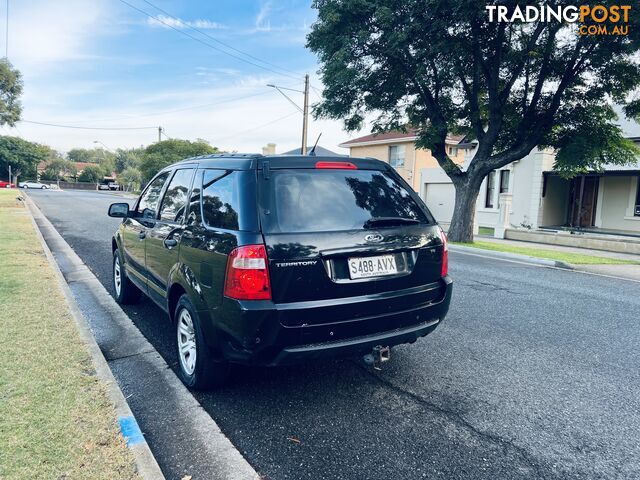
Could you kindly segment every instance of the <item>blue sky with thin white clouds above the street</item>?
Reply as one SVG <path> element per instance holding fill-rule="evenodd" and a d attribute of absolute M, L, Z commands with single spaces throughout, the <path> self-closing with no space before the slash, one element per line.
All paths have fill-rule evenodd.
<path fill-rule="evenodd" d="M 284 152 L 300 147 L 302 114 L 267 84 L 302 90 L 309 73 L 310 101 L 320 100 L 317 59 L 305 48 L 316 18 L 309 1 L 8 0 L 8 45 L 6 1 L 0 55 L 23 75 L 24 121 L 4 134 L 65 152 L 148 145 L 162 126 L 163 138 L 240 152 L 272 142 Z M 286 93 L 302 105 L 302 93 Z M 308 143 L 320 133 L 339 153 L 357 136 L 340 121 L 311 119 Z"/>

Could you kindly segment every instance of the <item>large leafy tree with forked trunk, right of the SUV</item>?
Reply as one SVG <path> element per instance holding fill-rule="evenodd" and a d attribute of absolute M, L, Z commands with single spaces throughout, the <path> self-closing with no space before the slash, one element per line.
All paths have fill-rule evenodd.
<path fill-rule="evenodd" d="M 500 2 L 509 13 L 547 4 Z M 449 236 L 462 242 L 473 240 L 482 180 L 536 146 L 554 148 L 556 168 L 567 175 L 628 163 L 636 153 L 612 105 L 629 118 L 640 112 L 640 100 L 630 98 L 640 86 L 637 12 L 617 24 L 628 26 L 627 35 L 581 35 L 579 23 L 490 22 L 487 5 L 494 4 L 315 0 L 318 20 L 307 39 L 325 85 L 316 115 L 341 118 L 348 130 L 369 118 L 374 131 L 417 128 L 418 146 L 431 150 L 455 186 Z M 477 141 L 466 169 L 447 155 L 452 132 Z"/>

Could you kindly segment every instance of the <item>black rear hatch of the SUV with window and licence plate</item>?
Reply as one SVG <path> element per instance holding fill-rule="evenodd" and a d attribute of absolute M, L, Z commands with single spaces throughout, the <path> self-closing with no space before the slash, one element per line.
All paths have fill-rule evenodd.
<path fill-rule="evenodd" d="M 335 168 L 341 165 L 349 168 Z M 258 172 L 272 296 L 283 324 L 384 313 L 367 310 L 376 300 L 384 301 L 375 308 L 400 311 L 441 296 L 439 227 L 415 192 L 378 162 L 329 166 Z"/>

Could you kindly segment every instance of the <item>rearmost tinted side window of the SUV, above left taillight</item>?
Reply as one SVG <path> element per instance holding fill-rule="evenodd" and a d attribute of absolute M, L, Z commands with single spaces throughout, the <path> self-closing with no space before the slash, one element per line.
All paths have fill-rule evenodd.
<path fill-rule="evenodd" d="M 213 228 L 256 230 L 255 172 L 204 170 L 202 219 Z"/>

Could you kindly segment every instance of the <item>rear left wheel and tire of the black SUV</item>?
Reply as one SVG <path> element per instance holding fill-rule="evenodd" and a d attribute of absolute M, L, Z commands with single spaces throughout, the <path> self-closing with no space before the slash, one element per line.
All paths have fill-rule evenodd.
<path fill-rule="evenodd" d="M 229 365 L 213 358 L 200 317 L 186 294 L 178 300 L 174 320 L 180 379 L 194 390 L 222 385 L 229 375 Z"/>

